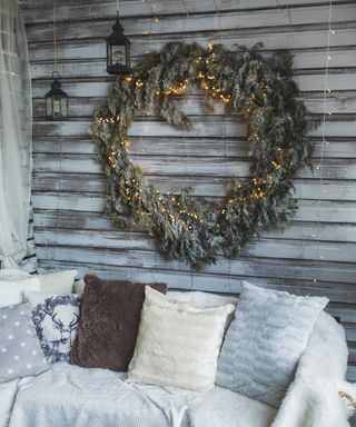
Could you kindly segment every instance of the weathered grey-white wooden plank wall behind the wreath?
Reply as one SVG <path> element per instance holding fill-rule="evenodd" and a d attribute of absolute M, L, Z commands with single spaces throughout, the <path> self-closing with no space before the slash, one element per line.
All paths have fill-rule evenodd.
<path fill-rule="evenodd" d="M 238 260 L 219 259 L 201 272 L 162 259 L 142 230 L 119 230 L 103 215 L 106 180 L 95 162 L 88 129 L 112 82 L 105 71 L 103 38 L 115 1 L 61 0 L 58 54 L 70 120 L 48 122 L 43 95 L 53 69 L 52 2 L 23 0 L 33 78 L 33 196 L 41 270 L 78 268 L 102 277 L 164 280 L 171 287 L 240 291 L 241 279 L 297 294 L 326 295 L 349 342 L 349 378 L 356 379 L 356 3 L 334 1 L 324 168 L 295 179 L 299 211 L 284 232 L 263 234 Z M 121 0 L 122 26 L 134 62 L 167 41 L 202 44 L 265 43 L 266 54 L 287 48 L 301 97 L 320 119 L 325 88 L 328 1 L 325 0 Z M 155 17 L 154 17 L 155 16 Z M 155 19 L 158 18 L 158 19 Z M 165 191 L 190 185 L 195 195 L 221 196 L 230 175 L 248 173 L 246 126 L 217 106 L 205 111 L 199 93 L 182 103 L 196 123 L 180 132 L 160 118 L 138 117 L 131 152 L 147 179 Z M 322 129 L 310 132 L 320 158 Z M 320 181 L 320 170 L 323 180 Z M 319 216 L 319 219 L 318 219 Z M 319 222 L 319 225 L 318 225 Z"/>

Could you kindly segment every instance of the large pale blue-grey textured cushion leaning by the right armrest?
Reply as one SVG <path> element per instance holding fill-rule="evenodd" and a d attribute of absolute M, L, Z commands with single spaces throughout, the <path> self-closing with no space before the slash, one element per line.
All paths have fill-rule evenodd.
<path fill-rule="evenodd" d="M 218 361 L 216 384 L 278 407 L 327 298 L 246 281 Z"/>

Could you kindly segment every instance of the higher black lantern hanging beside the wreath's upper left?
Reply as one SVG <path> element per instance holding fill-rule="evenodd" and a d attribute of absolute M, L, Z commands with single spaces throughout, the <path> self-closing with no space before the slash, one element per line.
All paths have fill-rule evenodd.
<path fill-rule="evenodd" d="M 107 41 L 107 72 L 109 75 L 128 75 L 130 72 L 130 41 L 123 34 L 119 13 L 112 27 L 113 32 Z"/>

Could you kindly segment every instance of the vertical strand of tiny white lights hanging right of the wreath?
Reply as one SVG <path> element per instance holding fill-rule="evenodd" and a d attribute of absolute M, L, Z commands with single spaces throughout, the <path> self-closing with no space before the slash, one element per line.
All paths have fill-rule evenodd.
<path fill-rule="evenodd" d="M 315 216 L 315 219 L 317 220 L 317 230 L 316 230 L 316 234 L 312 235 L 312 237 L 316 239 L 316 260 L 324 259 L 324 256 L 320 256 L 320 212 L 322 212 L 322 193 L 326 192 L 325 188 L 323 187 L 324 186 L 324 152 L 325 152 L 325 147 L 329 143 L 326 140 L 326 119 L 328 116 L 333 115 L 333 112 L 328 109 L 328 106 L 327 106 L 328 96 L 332 93 L 332 89 L 329 88 L 329 83 L 328 83 L 329 62 L 332 61 L 330 38 L 332 36 L 335 34 L 335 30 L 332 28 L 332 18 L 333 18 L 333 0 L 330 0 L 329 2 L 327 43 L 326 43 L 326 54 L 325 54 L 320 158 L 319 158 L 318 165 L 316 166 L 316 170 L 319 171 L 318 210 Z M 314 277 L 314 282 L 316 281 L 317 281 L 317 277 Z"/>

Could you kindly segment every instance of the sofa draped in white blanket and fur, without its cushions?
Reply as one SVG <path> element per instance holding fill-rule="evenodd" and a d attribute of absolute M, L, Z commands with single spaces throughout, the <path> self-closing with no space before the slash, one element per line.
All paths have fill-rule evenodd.
<path fill-rule="evenodd" d="M 346 427 L 338 391 L 356 391 L 346 368 L 344 329 L 323 311 L 277 408 L 217 385 L 194 391 L 127 383 L 125 373 L 61 361 L 0 384 L 0 427 Z"/>

